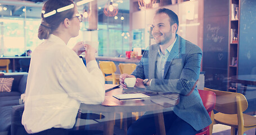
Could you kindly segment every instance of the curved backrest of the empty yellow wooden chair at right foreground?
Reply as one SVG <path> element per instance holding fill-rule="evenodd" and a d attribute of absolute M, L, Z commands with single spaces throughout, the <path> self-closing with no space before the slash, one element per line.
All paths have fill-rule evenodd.
<path fill-rule="evenodd" d="M 244 112 L 248 108 L 248 102 L 245 96 L 241 93 L 218 91 L 210 88 L 204 88 L 204 90 L 212 91 L 216 94 L 216 104 L 214 110 L 220 113 L 237 114 Z M 240 109 L 237 108 L 238 102 L 241 105 Z"/>

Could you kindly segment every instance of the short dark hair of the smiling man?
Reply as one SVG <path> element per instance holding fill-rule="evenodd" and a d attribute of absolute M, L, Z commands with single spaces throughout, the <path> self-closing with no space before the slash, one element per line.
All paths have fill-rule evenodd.
<path fill-rule="evenodd" d="M 159 14 L 159 13 L 166 13 L 169 17 L 170 17 L 170 26 L 172 26 L 173 24 L 177 24 L 179 27 L 179 19 L 178 19 L 178 16 L 176 13 L 174 13 L 172 10 L 169 10 L 167 8 L 159 8 L 157 11 L 156 11 L 156 14 Z M 177 28 L 178 30 L 178 28 Z M 177 30 L 176 30 L 176 33 L 177 33 Z"/>

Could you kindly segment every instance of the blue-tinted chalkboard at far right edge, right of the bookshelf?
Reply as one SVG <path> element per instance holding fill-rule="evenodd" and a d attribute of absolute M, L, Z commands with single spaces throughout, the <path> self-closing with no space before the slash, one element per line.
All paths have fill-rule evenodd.
<path fill-rule="evenodd" d="M 256 67 L 255 13 L 255 0 L 240 0 L 239 75 L 251 74 L 252 69 Z"/>

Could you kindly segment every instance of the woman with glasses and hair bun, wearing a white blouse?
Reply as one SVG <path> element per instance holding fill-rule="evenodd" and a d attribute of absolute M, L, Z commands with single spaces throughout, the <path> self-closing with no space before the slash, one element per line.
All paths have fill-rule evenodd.
<path fill-rule="evenodd" d="M 73 50 L 66 46 L 82 21 L 73 1 L 48 0 L 41 16 L 38 38 L 44 41 L 31 57 L 22 124 L 29 134 L 68 134 L 81 102 L 104 101 L 105 81 L 95 48 L 83 42 Z M 79 59 L 82 52 L 87 66 Z"/>

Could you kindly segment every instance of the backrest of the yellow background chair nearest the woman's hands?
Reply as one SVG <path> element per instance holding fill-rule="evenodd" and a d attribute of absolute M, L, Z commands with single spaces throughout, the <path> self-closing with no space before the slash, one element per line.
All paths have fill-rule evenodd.
<path fill-rule="evenodd" d="M 116 66 L 113 61 L 99 61 L 98 65 L 104 74 L 113 74 L 116 71 Z"/>

